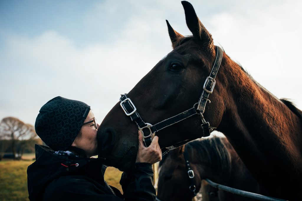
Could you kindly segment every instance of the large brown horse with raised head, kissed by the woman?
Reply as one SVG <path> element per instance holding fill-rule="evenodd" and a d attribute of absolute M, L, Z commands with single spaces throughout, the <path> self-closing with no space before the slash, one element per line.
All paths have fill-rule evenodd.
<path fill-rule="evenodd" d="M 156 132 L 160 146 L 182 145 L 200 138 L 204 136 L 200 125 L 208 122 L 226 135 L 268 195 L 302 200 L 301 111 L 269 93 L 225 53 L 210 101 L 200 99 L 205 80 L 209 81 L 207 77 L 216 65 L 219 48 L 214 46 L 193 6 L 185 1 L 182 5 L 193 36 L 182 36 L 167 21 L 173 51 L 127 96 L 140 117 L 153 125 L 192 108 L 199 100 L 206 101 L 207 108 L 201 113 L 203 121 L 199 115 L 192 115 Z M 127 79 L 131 79 L 131 72 L 121 82 Z M 214 80 L 211 88 L 213 84 Z M 290 83 L 284 84 L 291 87 Z M 98 130 L 99 154 L 108 165 L 124 170 L 135 162 L 137 129 L 118 102 Z"/>

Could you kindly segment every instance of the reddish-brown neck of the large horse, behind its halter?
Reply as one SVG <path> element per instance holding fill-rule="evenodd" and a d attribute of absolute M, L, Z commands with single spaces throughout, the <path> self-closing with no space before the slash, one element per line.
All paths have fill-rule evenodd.
<path fill-rule="evenodd" d="M 302 176 L 299 117 L 238 65 L 233 67 L 229 68 L 233 72 L 224 72 L 232 82 L 227 83 L 229 98 L 217 130 L 226 135 L 258 181 L 268 184 L 276 180 L 277 185 L 280 173 L 284 178 L 279 182 L 285 182 L 285 177 L 297 180 Z"/>

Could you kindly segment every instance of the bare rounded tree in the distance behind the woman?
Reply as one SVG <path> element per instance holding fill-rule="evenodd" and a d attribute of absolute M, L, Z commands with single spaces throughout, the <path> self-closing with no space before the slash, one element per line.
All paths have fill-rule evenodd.
<path fill-rule="evenodd" d="M 17 148 L 19 150 L 18 154 L 22 155 L 25 146 L 34 140 L 36 136 L 34 126 L 25 124 L 18 118 L 6 117 L 0 122 L 0 137 L 2 140 L 11 141 L 11 151 L 14 158 L 16 158 Z"/>

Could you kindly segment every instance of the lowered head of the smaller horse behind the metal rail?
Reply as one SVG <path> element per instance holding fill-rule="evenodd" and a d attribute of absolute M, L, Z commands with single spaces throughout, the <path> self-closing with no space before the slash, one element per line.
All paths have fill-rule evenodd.
<path fill-rule="evenodd" d="M 195 193 L 201 188 L 199 171 L 197 171 L 196 165 L 190 163 L 190 159 L 187 159 L 190 163 L 189 168 L 193 171 L 193 174 L 191 172 L 188 173 L 188 162 L 185 161 L 184 152 L 185 145 L 169 152 L 159 163 L 159 180 L 156 197 L 161 201 L 191 201 L 196 195 Z"/>

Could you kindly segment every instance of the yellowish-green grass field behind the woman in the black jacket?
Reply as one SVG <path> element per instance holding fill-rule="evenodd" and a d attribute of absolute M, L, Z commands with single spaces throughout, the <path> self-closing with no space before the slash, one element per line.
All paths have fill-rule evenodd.
<path fill-rule="evenodd" d="M 34 161 L 34 154 L 22 156 L 21 161 L 0 161 L 0 201 L 28 201 L 27 174 L 28 165 Z M 111 186 L 122 190 L 119 181 L 122 172 L 108 167 L 105 172 L 105 181 Z"/>

